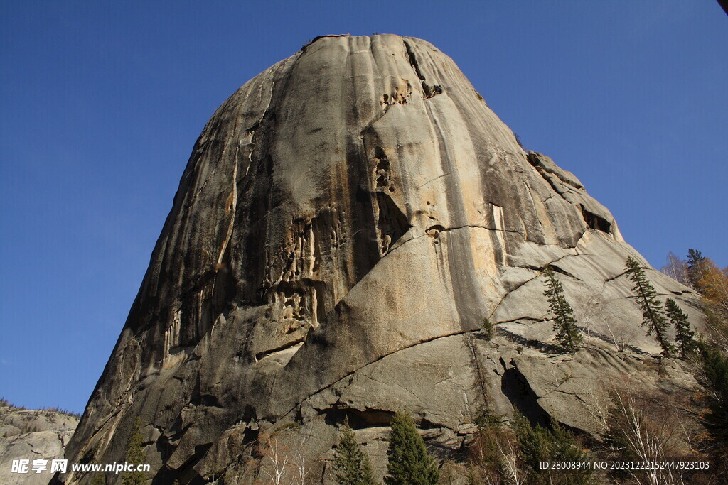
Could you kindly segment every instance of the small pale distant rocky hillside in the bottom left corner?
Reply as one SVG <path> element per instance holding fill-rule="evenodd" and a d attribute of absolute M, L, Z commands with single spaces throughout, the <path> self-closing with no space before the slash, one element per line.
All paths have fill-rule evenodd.
<path fill-rule="evenodd" d="M 35 473 L 33 460 L 63 459 L 79 420 L 63 412 L 0 405 L 0 484 L 45 485 L 49 470 Z M 12 473 L 13 460 L 31 460 L 28 473 Z"/>

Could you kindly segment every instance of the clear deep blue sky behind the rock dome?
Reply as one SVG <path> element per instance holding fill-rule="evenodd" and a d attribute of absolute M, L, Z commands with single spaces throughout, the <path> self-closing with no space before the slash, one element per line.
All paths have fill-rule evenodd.
<path fill-rule="evenodd" d="M 82 411 L 194 140 L 327 33 L 454 58 L 660 267 L 728 265 L 728 17 L 681 1 L 9 1 L 0 11 L 0 396 Z"/>

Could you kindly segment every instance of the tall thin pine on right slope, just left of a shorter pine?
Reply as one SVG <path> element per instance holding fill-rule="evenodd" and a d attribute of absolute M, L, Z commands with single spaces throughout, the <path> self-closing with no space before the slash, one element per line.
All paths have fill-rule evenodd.
<path fill-rule="evenodd" d="M 665 332 L 668 327 L 668 320 L 665 318 L 665 312 L 662 305 L 657 300 L 657 292 L 654 286 L 644 275 L 644 270 L 639 262 L 633 257 L 627 257 L 625 270 L 629 278 L 633 281 L 633 292 L 636 294 L 637 304 L 642 309 L 642 326 L 647 326 L 647 334 L 652 335 L 657 343 L 660 344 L 662 352 L 665 356 L 670 356 L 675 352 L 675 347 L 669 341 Z"/>

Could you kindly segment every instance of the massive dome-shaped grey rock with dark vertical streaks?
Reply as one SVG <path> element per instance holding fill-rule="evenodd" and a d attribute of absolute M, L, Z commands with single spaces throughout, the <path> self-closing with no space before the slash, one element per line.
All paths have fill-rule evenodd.
<path fill-rule="evenodd" d="M 155 483 L 247 483 L 280 430 L 328 483 L 344 417 L 379 473 L 403 407 L 443 456 L 484 400 L 589 431 L 579 393 L 599 382 L 691 382 L 678 364 L 665 380 L 668 359 L 652 356 L 628 256 L 647 265 L 431 44 L 316 39 L 235 92 L 195 143 L 68 454 L 123 460 L 141 416 Z M 586 326 L 573 357 L 550 348 L 546 264 Z M 699 324 L 696 294 L 647 275 Z"/>

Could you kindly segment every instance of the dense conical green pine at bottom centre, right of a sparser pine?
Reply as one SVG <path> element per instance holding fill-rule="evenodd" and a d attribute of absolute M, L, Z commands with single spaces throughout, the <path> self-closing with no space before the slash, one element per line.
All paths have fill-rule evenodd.
<path fill-rule="evenodd" d="M 407 411 L 398 411 L 392 418 L 387 457 L 389 475 L 384 482 L 389 485 L 435 485 L 440 479 L 438 463 L 427 453 Z"/>

